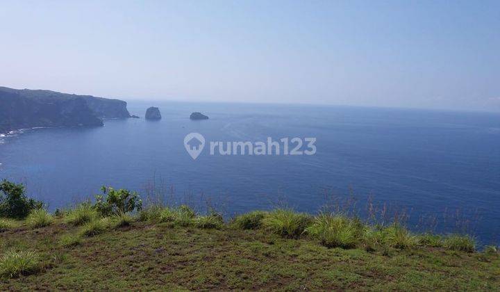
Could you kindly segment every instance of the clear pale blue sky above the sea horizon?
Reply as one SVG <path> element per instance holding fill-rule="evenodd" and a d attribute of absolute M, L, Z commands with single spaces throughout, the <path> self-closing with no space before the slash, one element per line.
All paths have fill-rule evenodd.
<path fill-rule="evenodd" d="M 0 86 L 500 111 L 500 1 L 2 1 Z"/>

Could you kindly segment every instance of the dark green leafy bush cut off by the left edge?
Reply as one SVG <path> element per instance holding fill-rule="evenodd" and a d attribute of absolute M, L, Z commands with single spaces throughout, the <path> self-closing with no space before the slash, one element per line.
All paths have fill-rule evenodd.
<path fill-rule="evenodd" d="M 24 195 L 24 186 L 6 179 L 0 184 L 0 217 L 23 219 L 33 209 L 41 209 L 42 202 Z"/>

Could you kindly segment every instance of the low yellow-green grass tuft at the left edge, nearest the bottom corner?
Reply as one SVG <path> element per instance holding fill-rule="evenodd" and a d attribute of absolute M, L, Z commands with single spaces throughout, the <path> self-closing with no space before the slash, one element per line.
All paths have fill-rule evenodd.
<path fill-rule="evenodd" d="M 35 273 L 40 265 L 40 257 L 36 252 L 10 250 L 0 258 L 0 275 L 19 277 Z"/>

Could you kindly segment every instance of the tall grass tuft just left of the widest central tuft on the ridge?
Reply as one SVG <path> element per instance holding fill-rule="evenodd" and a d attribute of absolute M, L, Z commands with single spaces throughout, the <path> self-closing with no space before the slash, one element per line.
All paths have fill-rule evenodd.
<path fill-rule="evenodd" d="M 263 227 L 270 232 L 290 238 L 299 237 L 310 225 L 310 216 L 288 209 L 276 209 L 263 218 Z"/>

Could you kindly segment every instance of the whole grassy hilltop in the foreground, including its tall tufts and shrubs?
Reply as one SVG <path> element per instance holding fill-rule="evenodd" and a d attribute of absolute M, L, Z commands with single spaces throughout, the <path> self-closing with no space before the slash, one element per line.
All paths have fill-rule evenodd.
<path fill-rule="evenodd" d="M 4 193 L 15 190 L 6 186 Z M 134 193 L 103 190 L 95 204 L 49 214 L 31 202 L 26 217 L 1 218 L 0 290 L 500 287 L 497 249 L 477 252 L 469 236 L 411 234 L 394 223 L 287 209 L 224 222 L 188 206 L 142 209 Z M 5 206 L 0 200 L 0 213 Z"/>

